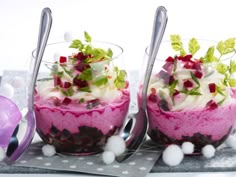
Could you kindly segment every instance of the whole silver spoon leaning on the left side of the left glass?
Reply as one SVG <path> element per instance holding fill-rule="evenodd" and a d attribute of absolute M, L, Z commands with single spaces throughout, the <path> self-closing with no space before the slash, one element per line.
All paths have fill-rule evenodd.
<path fill-rule="evenodd" d="M 16 127 L 8 145 L 5 162 L 9 164 L 15 162 L 23 154 L 30 145 L 35 134 L 34 88 L 51 25 L 51 10 L 49 8 L 44 8 L 41 13 L 36 58 L 32 58 L 30 64 L 29 78 L 31 80 L 28 85 L 28 110 Z"/>

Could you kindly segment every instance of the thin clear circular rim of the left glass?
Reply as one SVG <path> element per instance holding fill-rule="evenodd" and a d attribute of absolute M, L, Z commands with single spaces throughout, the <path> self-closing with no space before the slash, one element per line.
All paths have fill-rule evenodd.
<path fill-rule="evenodd" d="M 82 40 L 82 41 L 85 41 L 85 40 Z M 69 42 L 66 42 L 66 41 L 51 42 L 51 43 L 48 43 L 48 44 L 46 45 L 46 47 L 47 47 L 47 46 L 53 46 L 53 45 L 56 45 L 56 44 L 66 44 L 66 43 L 68 43 L 68 48 L 69 48 L 69 44 L 70 44 L 70 43 L 69 43 Z M 115 44 L 115 43 L 112 43 L 112 42 L 94 40 L 94 41 L 91 42 L 91 44 L 93 44 L 93 43 L 111 45 L 111 46 L 114 46 L 115 48 L 117 48 L 117 49 L 119 50 L 119 52 L 118 52 L 117 55 L 112 56 L 111 58 L 108 58 L 108 59 L 106 59 L 106 60 L 95 61 L 95 62 L 93 62 L 93 63 L 99 63 L 99 62 L 104 62 L 104 61 L 116 60 L 116 59 L 118 59 L 118 58 L 124 53 L 124 49 L 123 49 L 120 45 Z M 72 48 L 71 48 L 71 49 L 72 49 Z M 36 58 L 36 50 L 37 50 L 37 48 L 35 48 L 35 49 L 31 52 L 31 56 L 32 56 L 33 58 Z M 42 59 L 42 63 L 50 64 L 50 65 L 54 65 L 54 64 L 55 64 L 55 63 L 52 62 L 52 61 L 47 61 L 47 60 L 44 60 L 44 59 Z M 71 66 L 72 66 L 72 65 L 75 66 L 75 64 L 71 64 L 71 63 L 69 63 L 69 62 L 65 62 L 64 64 L 67 65 L 67 66 L 70 66 L 70 65 L 71 65 Z"/>

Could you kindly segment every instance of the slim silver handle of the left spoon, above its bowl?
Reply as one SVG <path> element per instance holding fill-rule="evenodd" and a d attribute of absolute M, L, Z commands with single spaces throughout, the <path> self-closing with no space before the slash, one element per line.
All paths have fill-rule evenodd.
<path fill-rule="evenodd" d="M 37 43 L 37 49 L 36 49 L 36 57 L 35 59 L 32 59 L 31 63 L 31 81 L 29 83 L 29 90 L 28 90 L 28 109 L 33 110 L 33 104 L 34 104 L 34 87 L 36 84 L 38 72 L 40 63 L 43 58 L 43 53 L 45 50 L 45 47 L 47 45 L 47 40 L 49 37 L 49 33 L 52 26 L 52 15 L 51 10 L 49 8 L 44 8 L 41 13 L 41 21 L 39 26 L 39 34 L 38 34 L 38 43 Z"/>

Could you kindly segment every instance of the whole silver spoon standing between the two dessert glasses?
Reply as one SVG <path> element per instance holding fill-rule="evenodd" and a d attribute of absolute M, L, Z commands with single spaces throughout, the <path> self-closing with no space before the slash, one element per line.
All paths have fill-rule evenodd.
<path fill-rule="evenodd" d="M 159 50 L 161 40 L 163 38 L 165 28 L 167 24 L 166 9 L 160 6 L 156 9 L 153 31 L 151 37 L 151 44 L 149 48 L 149 57 L 147 63 L 147 69 L 145 73 L 143 88 L 142 88 L 142 105 L 138 112 L 130 114 L 124 126 L 121 128 L 120 136 L 125 140 L 126 151 L 116 157 L 118 162 L 122 162 L 127 158 L 131 157 L 142 145 L 146 138 L 148 130 L 148 118 L 147 118 L 147 89 L 150 81 L 152 68 L 156 59 L 157 52 Z"/>

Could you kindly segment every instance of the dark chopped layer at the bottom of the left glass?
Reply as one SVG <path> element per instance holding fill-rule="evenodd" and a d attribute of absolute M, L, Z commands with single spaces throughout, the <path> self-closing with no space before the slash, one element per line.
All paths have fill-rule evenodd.
<path fill-rule="evenodd" d="M 55 146 L 56 151 L 64 154 L 91 155 L 103 151 L 108 137 L 118 132 L 117 127 L 113 127 L 107 134 L 94 127 L 78 127 L 79 133 L 70 133 L 64 129 L 59 131 L 52 126 L 50 133 L 44 135 L 40 130 L 38 134 L 48 144 Z"/>

